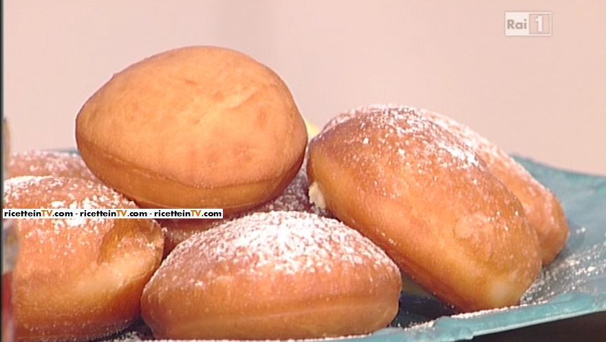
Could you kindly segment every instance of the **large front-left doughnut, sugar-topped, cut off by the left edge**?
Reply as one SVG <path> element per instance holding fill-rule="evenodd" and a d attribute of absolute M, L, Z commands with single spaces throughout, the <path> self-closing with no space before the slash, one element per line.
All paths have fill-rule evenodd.
<path fill-rule="evenodd" d="M 4 183 L 5 207 L 136 208 L 100 183 L 20 176 Z M 149 219 L 18 218 L 13 271 L 17 341 L 89 341 L 127 328 L 162 258 Z"/>

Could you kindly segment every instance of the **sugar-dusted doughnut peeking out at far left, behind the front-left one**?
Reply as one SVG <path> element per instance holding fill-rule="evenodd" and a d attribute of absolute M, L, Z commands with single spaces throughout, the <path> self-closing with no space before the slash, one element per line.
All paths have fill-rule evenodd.
<path fill-rule="evenodd" d="M 79 155 L 50 150 L 28 150 L 10 155 L 8 178 L 18 176 L 58 176 L 99 181 Z"/>

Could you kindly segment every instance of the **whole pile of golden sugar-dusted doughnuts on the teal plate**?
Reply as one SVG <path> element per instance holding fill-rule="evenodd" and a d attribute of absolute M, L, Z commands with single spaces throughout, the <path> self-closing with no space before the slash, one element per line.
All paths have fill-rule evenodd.
<path fill-rule="evenodd" d="M 400 272 L 461 312 L 501 308 L 567 240 L 557 198 L 447 117 L 376 105 L 310 131 L 277 73 L 232 49 L 114 74 L 76 117 L 79 155 L 12 155 L 6 207 L 224 218 L 18 220 L 18 341 L 140 317 L 157 339 L 369 334 L 396 317 Z"/>

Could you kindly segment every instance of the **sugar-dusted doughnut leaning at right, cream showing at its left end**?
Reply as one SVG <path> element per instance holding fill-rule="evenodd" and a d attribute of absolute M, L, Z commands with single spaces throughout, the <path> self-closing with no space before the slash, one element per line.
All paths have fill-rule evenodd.
<path fill-rule="evenodd" d="M 518 199 L 415 111 L 366 111 L 312 139 L 310 196 L 461 311 L 515 305 L 541 269 Z"/>

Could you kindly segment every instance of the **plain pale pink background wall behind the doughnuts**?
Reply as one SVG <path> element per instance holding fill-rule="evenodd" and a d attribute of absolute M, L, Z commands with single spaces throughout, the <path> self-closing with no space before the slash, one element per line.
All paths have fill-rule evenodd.
<path fill-rule="evenodd" d="M 449 115 L 508 152 L 606 175 L 606 1 L 4 1 L 14 150 L 74 146 L 80 106 L 133 62 L 183 45 L 250 54 L 321 126 L 364 104 Z M 506 11 L 552 12 L 510 37 Z"/>

